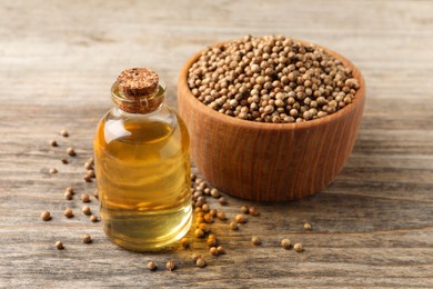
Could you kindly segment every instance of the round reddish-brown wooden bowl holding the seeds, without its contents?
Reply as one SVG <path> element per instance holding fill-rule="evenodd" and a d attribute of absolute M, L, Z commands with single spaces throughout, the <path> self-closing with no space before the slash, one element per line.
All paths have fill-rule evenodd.
<path fill-rule="evenodd" d="M 191 157 L 212 186 L 248 200 L 288 201 L 314 195 L 334 180 L 355 142 L 365 83 L 352 62 L 320 48 L 351 68 L 360 88 L 353 102 L 335 113 L 299 123 L 241 120 L 207 107 L 187 83 L 200 52 L 187 61 L 178 81 L 179 111 L 190 132 Z"/>

